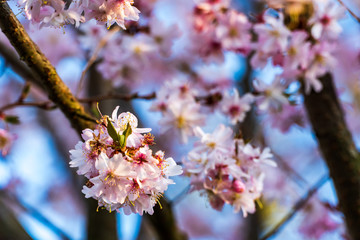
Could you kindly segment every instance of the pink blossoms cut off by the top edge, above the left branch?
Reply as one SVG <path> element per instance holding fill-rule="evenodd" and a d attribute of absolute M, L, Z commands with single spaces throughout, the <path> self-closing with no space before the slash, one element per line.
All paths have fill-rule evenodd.
<path fill-rule="evenodd" d="M 20 0 L 25 16 L 35 25 L 62 27 L 79 26 L 80 22 L 95 19 L 110 27 L 117 23 L 125 29 L 125 20 L 137 21 L 140 11 L 133 0 L 80 0 L 67 6 L 63 0 Z"/>

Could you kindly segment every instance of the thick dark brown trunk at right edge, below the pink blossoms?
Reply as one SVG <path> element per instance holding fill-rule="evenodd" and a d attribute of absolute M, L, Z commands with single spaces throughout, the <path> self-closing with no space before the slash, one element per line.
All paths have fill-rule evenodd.
<path fill-rule="evenodd" d="M 321 79 L 323 90 L 304 94 L 305 106 L 319 147 L 329 167 L 339 205 L 352 239 L 360 239 L 360 155 L 348 130 L 333 79 Z"/>

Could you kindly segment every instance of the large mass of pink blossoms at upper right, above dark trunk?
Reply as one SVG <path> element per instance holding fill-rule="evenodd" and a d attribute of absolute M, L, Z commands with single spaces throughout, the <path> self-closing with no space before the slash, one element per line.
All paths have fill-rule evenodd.
<path fill-rule="evenodd" d="M 338 20 L 344 8 L 331 1 L 313 1 L 314 11 L 305 26 L 291 29 L 281 11 L 266 11 L 255 21 L 231 9 L 230 1 L 201 1 L 195 6 L 194 51 L 206 61 L 222 61 L 224 51 L 249 55 L 254 68 L 269 62 L 280 66 L 279 77 L 290 83 L 302 80 L 305 92 L 320 91 L 319 77 L 336 65 L 335 40 L 342 31 Z M 310 30 L 309 30 L 310 29 Z M 198 39 L 201 39 L 199 41 Z M 201 45 L 201 46 L 200 46 Z"/>

